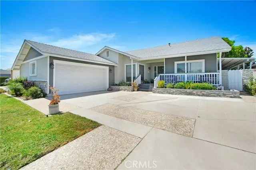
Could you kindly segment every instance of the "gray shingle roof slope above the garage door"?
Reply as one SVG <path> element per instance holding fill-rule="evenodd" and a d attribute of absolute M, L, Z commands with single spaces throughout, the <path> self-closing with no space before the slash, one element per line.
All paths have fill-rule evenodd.
<path fill-rule="evenodd" d="M 37 49 L 42 51 L 43 53 L 51 53 L 51 54 L 57 54 L 57 55 L 64 55 L 67 57 L 74 57 L 74 58 L 79 58 L 79 59 L 86 59 L 86 60 L 91 60 L 91 61 L 98 61 L 98 62 L 103 62 L 103 63 L 109 63 L 109 64 L 116 64 L 111 61 L 108 61 L 106 59 L 103 59 L 102 57 L 99 57 L 94 54 L 90 53 L 84 53 L 81 51 L 75 51 L 75 50 L 70 50 L 70 49 L 65 49 L 62 47 L 56 47 L 53 45 L 48 45 L 44 43 L 38 43 L 35 41 L 30 41 L 26 40 L 28 43 L 31 45 L 34 45 Z"/>

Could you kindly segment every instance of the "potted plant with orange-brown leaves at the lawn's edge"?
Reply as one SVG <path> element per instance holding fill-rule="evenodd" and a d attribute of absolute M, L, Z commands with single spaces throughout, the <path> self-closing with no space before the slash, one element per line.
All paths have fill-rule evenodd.
<path fill-rule="evenodd" d="M 49 106 L 49 114 L 53 115 L 60 112 L 59 103 L 60 103 L 60 96 L 58 95 L 58 89 L 54 87 L 50 87 L 52 91 L 52 100 Z"/>

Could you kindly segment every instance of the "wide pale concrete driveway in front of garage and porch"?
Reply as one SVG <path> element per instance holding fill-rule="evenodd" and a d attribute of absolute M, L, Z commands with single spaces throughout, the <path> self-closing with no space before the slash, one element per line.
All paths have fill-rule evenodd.
<path fill-rule="evenodd" d="M 61 98 L 70 112 L 140 138 L 117 169 L 256 169 L 254 97 L 92 92 Z"/>

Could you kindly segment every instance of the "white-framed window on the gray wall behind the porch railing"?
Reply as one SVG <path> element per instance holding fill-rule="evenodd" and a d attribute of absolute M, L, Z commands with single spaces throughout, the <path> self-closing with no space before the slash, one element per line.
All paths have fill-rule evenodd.
<path fill-rule="evenodd" d="M 204 60 L 176 61 L 175 73 L 200 73 L 204 72 Z"/>

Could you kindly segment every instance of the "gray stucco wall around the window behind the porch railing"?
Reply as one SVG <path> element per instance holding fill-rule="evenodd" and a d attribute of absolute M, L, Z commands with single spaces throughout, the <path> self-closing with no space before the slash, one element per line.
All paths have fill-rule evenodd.
<path fill-rule="evenodd" d="M 205 72 L 217 72 L 217 58 L 216 53 L 204 54 L 204 55 L 192 55 L 187 56 L 187 61 L 190 60 L 202 60 L 204 59 L 204 70 Z M 172 57 L 165 59 L 165 73 L 174 74 L 174 62 L 185 61 L 185 57 Z"/>

